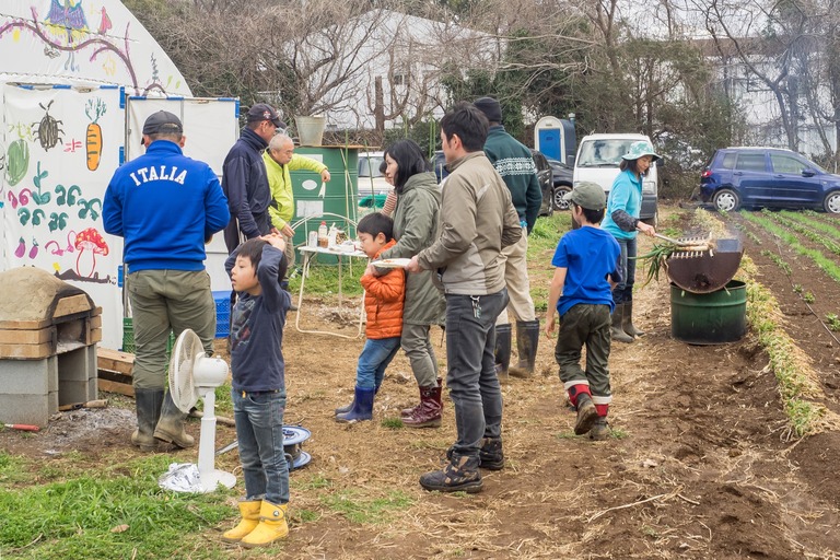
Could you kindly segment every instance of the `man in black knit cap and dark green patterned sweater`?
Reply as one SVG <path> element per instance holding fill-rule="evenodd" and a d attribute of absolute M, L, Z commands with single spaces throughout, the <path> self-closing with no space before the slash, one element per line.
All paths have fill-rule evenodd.
<path fill-rule="evenodd" d="M 511 191 L 513 206 L 520 214 L 522 228 L 527 232 L 534 229 L 539 207 L 542 205 L 542 191 L 537 179 L 534 158 L 522 142 L 509 135 L 502 126 L 502 107 L 492 97 L 480 97 L 474 105 L 487 116 L 490 130 L 485 142 L 485 153 L 502 176 Z M 530 282 L 527 268 L 528 236 L 523 235 L 520 242 L 502 250 L 504 280 L 511 303 L 495 323 L 495 369 L 500 376 L 510 374 L 515 377 L 527 377 L 534 373 L 539 342 L 539 319 L 534 312 L 534 300 L 530 298 Z M 516 349 L 518 363 L 513 368 L 511 361 L 511 323 L 508 312 L 516 320 Z"/>

